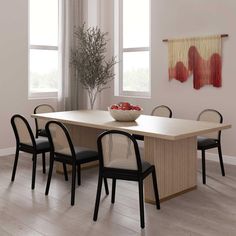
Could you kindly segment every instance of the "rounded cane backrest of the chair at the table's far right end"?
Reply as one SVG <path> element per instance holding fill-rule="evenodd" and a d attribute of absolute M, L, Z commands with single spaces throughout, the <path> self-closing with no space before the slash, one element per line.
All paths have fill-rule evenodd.
<path fill-rule="evenodd" d="M 197 120 L 199 121 L 207 121 L 207 122 L 216 122 L 216 123 L 223 123 L 223 116 L 220 114 L 220 112 L 213 110 L 213 109 L 205 109 L 203 110 L 199 115 Z M 213 138 L 220 140 L 221 131 L 213 132 L 209 134 L 202 135 L 206 138 Z"/>

